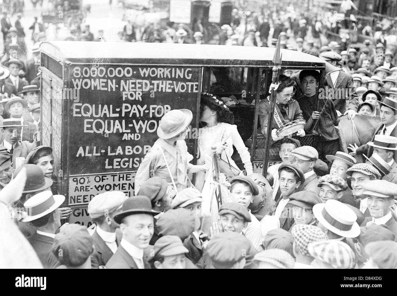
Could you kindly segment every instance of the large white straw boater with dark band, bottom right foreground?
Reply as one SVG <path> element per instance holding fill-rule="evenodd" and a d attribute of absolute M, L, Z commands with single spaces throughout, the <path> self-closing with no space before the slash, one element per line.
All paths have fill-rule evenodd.
<path fill-rule="evenodd" d="M 357 215 L 340 201 L 329 199 L 326 203 L 317 203 L 313 214 L 325 228 L 339 236 L 355 238 L 360 234 Z"/>

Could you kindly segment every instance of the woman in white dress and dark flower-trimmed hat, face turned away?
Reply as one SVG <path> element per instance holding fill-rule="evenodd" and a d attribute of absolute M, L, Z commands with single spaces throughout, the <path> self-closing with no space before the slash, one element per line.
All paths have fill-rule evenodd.
<path fill-rule="evenodd" d="M 204 127 L 199 129 L 198 145 L 200 158 L 198 164 L 204 163 L 205 156 L 212 157 L 212 146 L 216 146 L 216 152 L 225 161 L 229 160 L 231 166 L 237 168 L 231 159 L 233 146 L 241 157 L 247 175 L 253 173 L 251 156 L 245 147 L 237 126 L 232 125 L 233 113 L 227 108 L 224 101 L 210 93 L 201 94 L 200 121 Z M 204 174 L 197 174 L 196 187 L 201 190 L 204 183 Z"/>

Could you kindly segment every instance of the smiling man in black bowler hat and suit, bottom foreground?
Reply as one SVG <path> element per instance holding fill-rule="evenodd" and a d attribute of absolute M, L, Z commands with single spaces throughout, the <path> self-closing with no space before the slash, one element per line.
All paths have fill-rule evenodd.
<path fill-rule="evenodd" d="M 148 248 L 154 232 L 150 199 L 143 195 L 130 197 L 123 202 L 121 213 L 114 216 L 123 234 L 120 245 L 106 263 L 107 269 L 150 269 L 144 250 Z"/>

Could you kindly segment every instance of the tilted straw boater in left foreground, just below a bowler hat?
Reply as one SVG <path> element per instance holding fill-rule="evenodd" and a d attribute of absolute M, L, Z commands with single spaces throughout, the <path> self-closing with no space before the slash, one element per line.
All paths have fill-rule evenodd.
<path fill-rule="evenodd" d="M 55 211 L 64 201 L 64 195 L 52 195 L 49 190 L 37 193 L 23 204 L 27 216 L 21 222 L 30 222 L 44 217 Z"/>

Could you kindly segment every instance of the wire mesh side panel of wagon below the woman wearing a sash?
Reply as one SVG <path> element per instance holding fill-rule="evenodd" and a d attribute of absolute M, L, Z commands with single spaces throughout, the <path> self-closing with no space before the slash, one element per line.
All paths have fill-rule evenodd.
<path fill-rule="evenodd" d="M 314 135 L 305 135 L 304 137 L 292 136 L 293 139 L 297 139 L 301 146 L 313 146 L 314 145 Z M 266 137 L 264 135 L 258 135 L 256 137 L 254 161 L 263 161 L 265 156 L 265 142 Z M 278 159 L 279 158 L 279 146 L 277 141 L 270 140 L 270 149 L 268 159 Z"/>

